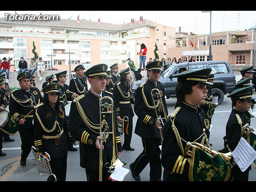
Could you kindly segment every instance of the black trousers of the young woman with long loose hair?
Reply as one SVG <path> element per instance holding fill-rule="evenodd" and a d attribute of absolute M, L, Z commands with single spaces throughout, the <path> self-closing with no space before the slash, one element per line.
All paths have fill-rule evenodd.
<path fill-rule="evenodd" d="M 62 158 L 54 158 L 50 160 L 52 173 L 56 176 L 57 181 L 66 181 L 67 174 L 67 157 L 68 153 Z M 54 176 L 49 176 L 47 181 L 54 181 Z"/>

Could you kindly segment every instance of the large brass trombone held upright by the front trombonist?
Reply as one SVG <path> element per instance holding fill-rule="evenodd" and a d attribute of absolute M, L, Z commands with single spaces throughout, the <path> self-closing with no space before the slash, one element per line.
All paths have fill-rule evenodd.
<path fill-rule="evenodd" d="M 109 103 L 104 103 L 102 104 L 103 99 L 108 99 L 111 101 L 111 104 Z M 113 142 L 113 154 L 112 154 L 112 160 L 111 162 L 108 162 L 105 164 L 106 168 L 110 169 L 110 172 L 112 169 L 114 169 L 116 166 L 124 167 L 126 166 L 125 162 L 122 162 L 118 156 L 118 151 L 117 151 L 117 145 L 116 145 L 116 130 L 115 130 L 115 119 L 114 119 L 114 101 L 112 100 L 111 97 L 109 96 L 104 96 L 100 99 L 100 166 L 99 166 L 99 181 L 102 181 L 102 167 L 103 167 L 103 144 L 105 142 L 104 140 L 104 135 L 105 134 L 112 134 L 112 142 Z M 105 107 L 107 109 L 106 112 L 102 112 L 102 107 Z M 102 114 L 111 114 L 112 115 L 112 132 L 104 132 L 102 131 L 103 126 L 108 126 L 105 116 Z M 103 117 L 103 120 L 102 120 Z"/>

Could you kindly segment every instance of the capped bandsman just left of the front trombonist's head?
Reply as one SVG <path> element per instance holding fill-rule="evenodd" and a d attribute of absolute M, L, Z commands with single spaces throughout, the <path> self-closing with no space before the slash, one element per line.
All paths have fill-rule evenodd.
<path fill-rule="evenodd" d="M 84 66 L 82 64 L 75 67 L 76 76 L 69 82 L 69 90 L 78 95 L 88 92 L 87 80 L 84 76 Z"/>

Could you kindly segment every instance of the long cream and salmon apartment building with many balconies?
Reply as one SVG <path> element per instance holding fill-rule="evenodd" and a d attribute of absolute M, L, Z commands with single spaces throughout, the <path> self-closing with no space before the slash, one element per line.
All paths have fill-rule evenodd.
<path fill-rule="evenodd" d="M 126 24 L 111 24 L 85 19 L 71 20 L 8 20 L 0 18 L 0 58 L 12 58 L 11 69 L 18 70 L 20 57 L 30 63 L 33 42 L 35 52 L 42 57 L 46 68 L 71 70 L 78 64 L 90 68 L 105 63 L 118 63 L 120 70 L 128 67 L 132 58 L 139 66 L 140 44 L 148 48 L 147 59 L 154 58 L 155 43 L 161 58 L 172 55 L 175 47 L 175 28 L 144 19 L 131 19 Z M 160 59 L 161 59 L 160 58 Z"/>

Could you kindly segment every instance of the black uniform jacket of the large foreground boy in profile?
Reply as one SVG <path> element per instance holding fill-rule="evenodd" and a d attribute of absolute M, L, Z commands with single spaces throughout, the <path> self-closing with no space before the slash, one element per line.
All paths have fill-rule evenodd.
<path fill-rule="evenodd" d="M 202 137 L 200 136 L 203 134 L 203 129 L 206 129 L 207 132 L 210 128 L 210 124 L 207 121 L 204 122 L 204 119 L 207 118 L 199 107 L 195 108 L 186 102 L 180 102 L 179 106 L 172 112 L 163 129 L 161 161 L 165 170 L 170 173 L 181 174 L 180 176 L 184 176 L 185 180 L 188 180 L 188 156 L 183 156 L 181 149 L 185 149 L 186 142 L 194 142 L 195 140 L 198 143 L 201 142 Z M 175 134 L 172 126 L 177 128 L 178 134 L 182 138 L 182 145 L 178 144 L 177 134 Z M 179 164 L 181 166 L 177 166 Z"/>

